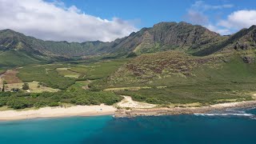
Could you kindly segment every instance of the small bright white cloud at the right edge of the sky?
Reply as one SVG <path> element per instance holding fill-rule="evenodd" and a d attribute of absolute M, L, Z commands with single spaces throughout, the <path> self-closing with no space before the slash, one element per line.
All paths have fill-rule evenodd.
<path fill-rule="evenodd" d="M 226 20 L 218 22 L 218 26 L 242 29 L 256 25 L 256 10 L 238 10 L 230 14 Z"/>

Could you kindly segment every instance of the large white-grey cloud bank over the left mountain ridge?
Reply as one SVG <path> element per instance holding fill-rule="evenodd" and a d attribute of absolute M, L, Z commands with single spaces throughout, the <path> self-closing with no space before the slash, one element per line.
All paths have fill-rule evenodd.
<path fill-rule="evenodd" d="M 112 41 L 137 31 L 131 22 L 106 20 L 82 13 L 76 6 L 43 0 L 0 0 L 0 30 L 12 29 L 44 40 Z"/>

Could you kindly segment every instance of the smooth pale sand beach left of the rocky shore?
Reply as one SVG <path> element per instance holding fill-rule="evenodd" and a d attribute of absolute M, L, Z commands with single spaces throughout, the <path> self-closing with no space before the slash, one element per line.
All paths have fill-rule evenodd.
<path fill-rule="evenodd" d="M 115 112 L 114 106 L 71 106 L 64 107 L 45 107 L 38 110 L 6 110 L 0 111 L 0 120 L 18 120 L 27 118 L 54 118 L 69 116 L 94 116 L 110 115 Z"/>

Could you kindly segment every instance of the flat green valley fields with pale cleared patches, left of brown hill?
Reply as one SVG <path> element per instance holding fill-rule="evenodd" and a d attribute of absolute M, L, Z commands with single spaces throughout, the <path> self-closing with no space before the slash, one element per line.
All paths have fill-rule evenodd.
<path fill-rule="evenodd" d="M 18 69 L 18 78 L 22 82 L 43 82 L 44 86 L 66 90 L 77 80 L 102 79 L 114 73 L 127 59 L 94 62 L 90 64 L 51 64 L 23 66 Z"/>

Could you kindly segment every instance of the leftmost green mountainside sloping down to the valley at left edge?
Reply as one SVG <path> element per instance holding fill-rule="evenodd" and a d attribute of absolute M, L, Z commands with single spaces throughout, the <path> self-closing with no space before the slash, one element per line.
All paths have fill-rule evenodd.
<path fill-rule="evenodd" d="M 13 30 L 0 31 L 0 66 L 13 67 L 28 64 L 49 63 L 66 58 L 46 50 L 35 49 L 35 38 Z"/>

